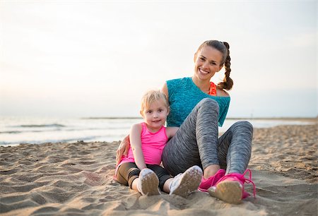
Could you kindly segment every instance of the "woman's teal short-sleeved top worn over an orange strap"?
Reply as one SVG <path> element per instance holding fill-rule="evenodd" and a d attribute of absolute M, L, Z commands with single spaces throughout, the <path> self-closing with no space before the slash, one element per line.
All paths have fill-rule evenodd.
<path fill-rule="evenodd" d="M 218 125 L 222 126 L 228 113 L 230 97 L 217 97 L 202 92 L 192 81 L 192 78 L 167 80 L 170 114 L 167 116 L 167 126 L 179 127 L 192 109 L 202 99 L 210 97 L 218 102 Z"/>

